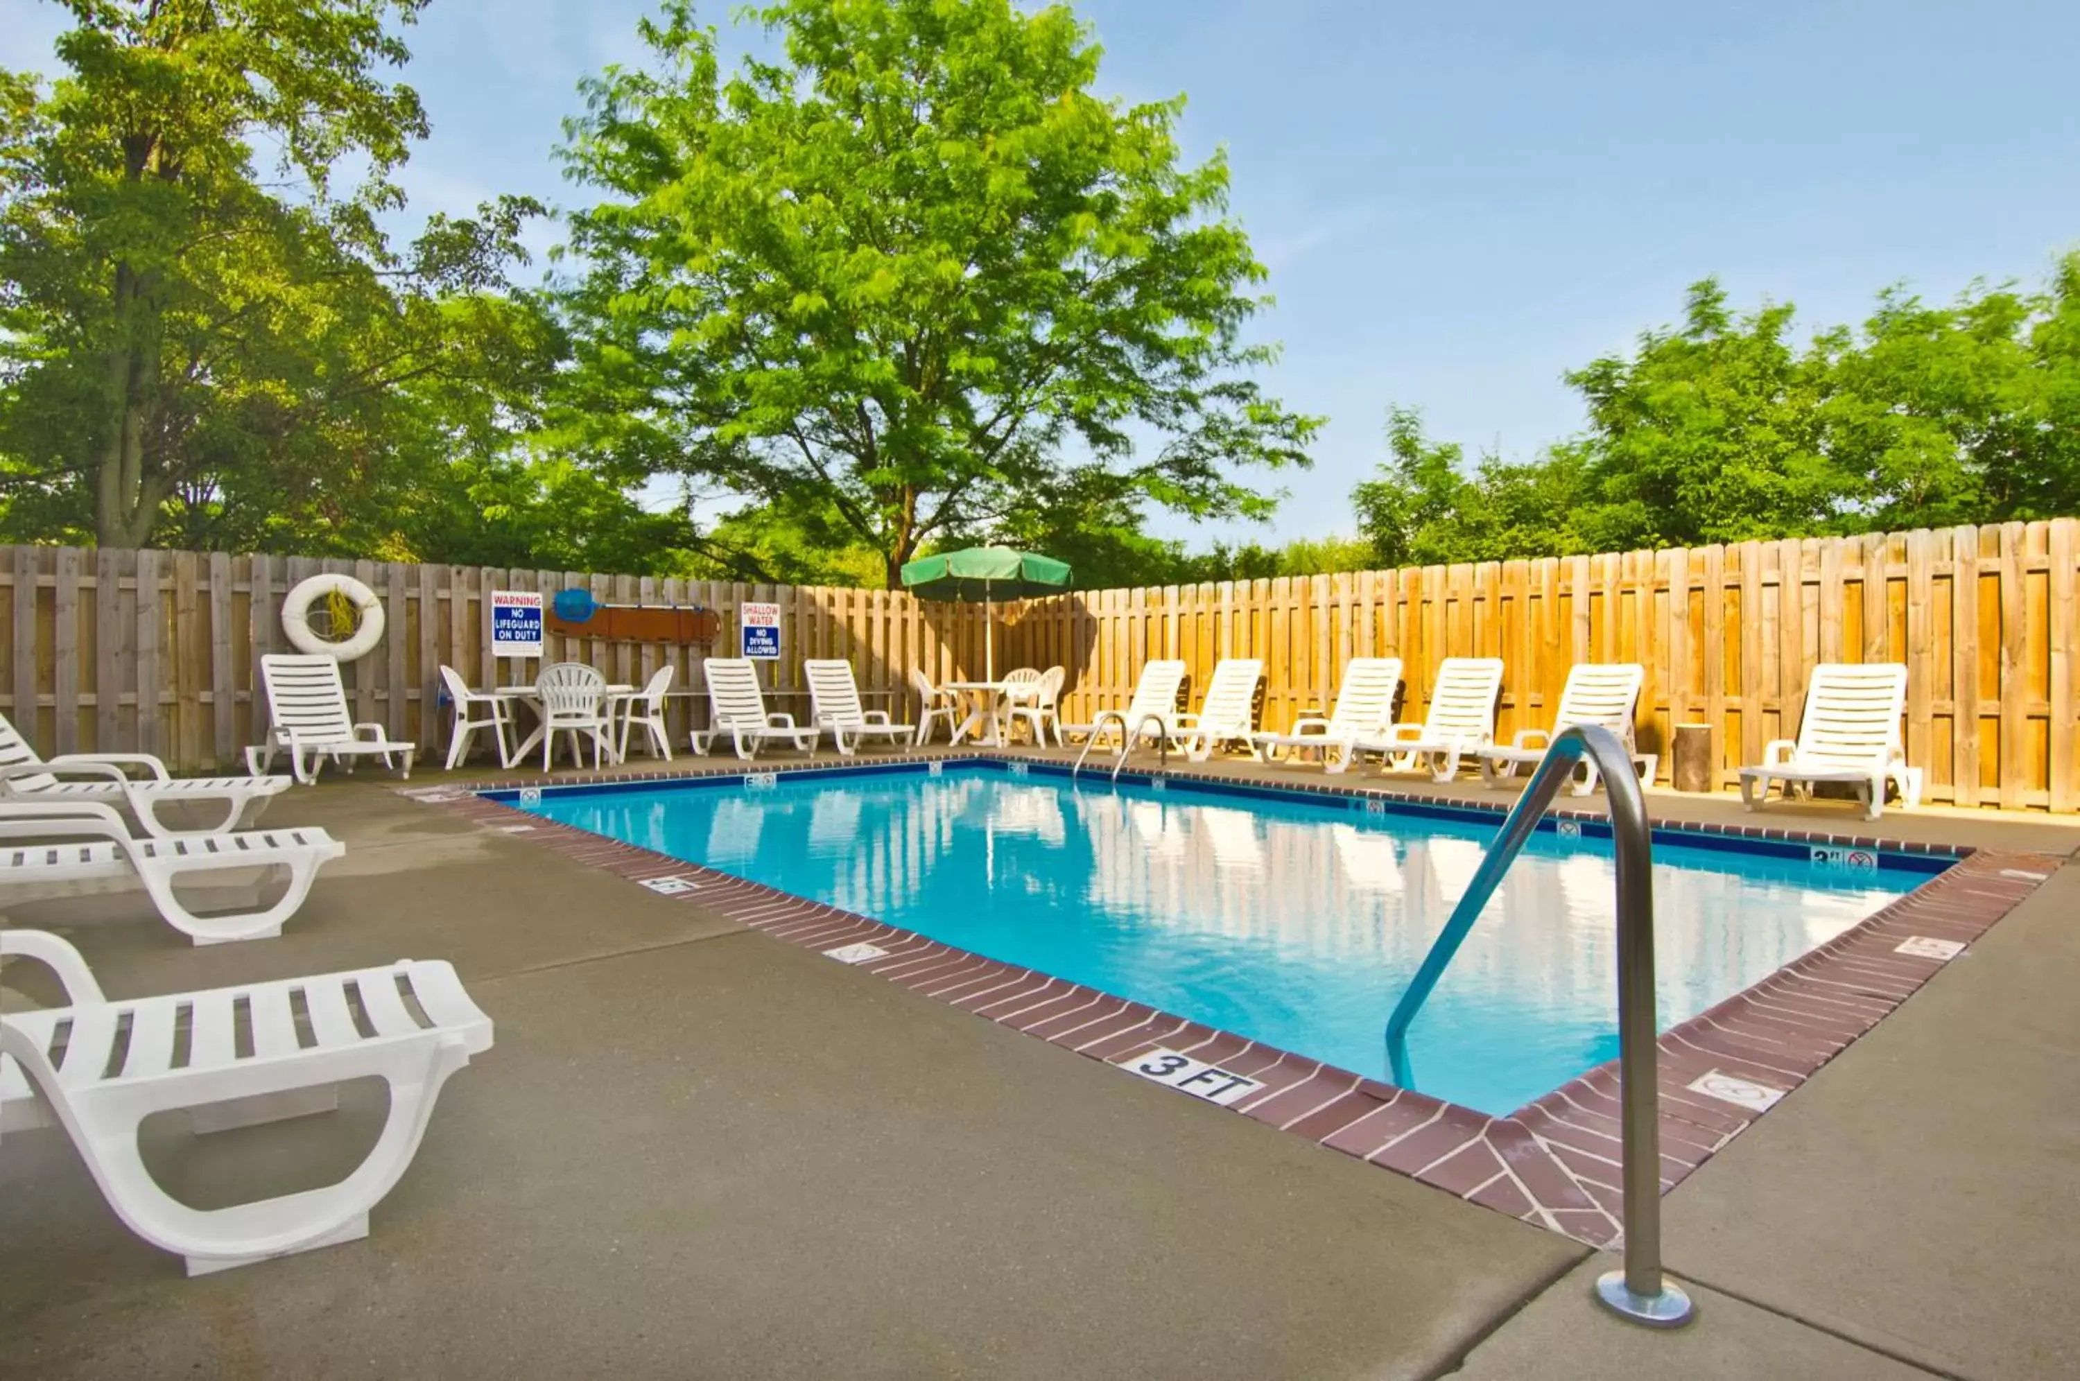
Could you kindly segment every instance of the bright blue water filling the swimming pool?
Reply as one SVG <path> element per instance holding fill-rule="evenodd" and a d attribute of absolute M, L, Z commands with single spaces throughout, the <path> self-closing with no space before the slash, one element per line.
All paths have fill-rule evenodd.
<path fill-rule="evenodd" d="M 1496 826 L 998 767 L 545 790 L 524 809 L 1385 1077 L 1387 1013 Z M 1408 1038 L 1414 1084 L 1510 1113 L 1618 1052 L 1612 851 L 1537 834 Z M 1920 884 L 1654 849 L 1662 1027 Z"/>

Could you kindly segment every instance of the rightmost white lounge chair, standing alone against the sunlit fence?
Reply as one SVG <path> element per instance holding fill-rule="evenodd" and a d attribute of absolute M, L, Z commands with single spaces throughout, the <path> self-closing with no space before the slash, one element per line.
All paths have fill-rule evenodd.
<path fill-rule="evenodd" d="M 1776 738 L 1762 749 L 1760 767 L 1741 767 L 1741 805 L 1756 809 L 1770 782 L 1810 797 L 1814 782 L 1847 782 L 1864 803 L 1864 817 L 1884 813 L 1884 784 L 1899 784 L 1909 809 L 1922 803 L 1922 770 L 1907 765 L 1899 742 L 1899 715 L 1907 707 L 1907 668 L 1822 663 L 1805 686 L 1805 713 L 1797 738 Z"/>

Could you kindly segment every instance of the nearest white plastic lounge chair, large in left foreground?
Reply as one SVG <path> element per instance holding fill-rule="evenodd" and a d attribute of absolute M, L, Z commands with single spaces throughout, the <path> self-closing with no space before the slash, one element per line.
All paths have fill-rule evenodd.
<path fill-rule="evenodd" d="M 125 1227 L 183 1256 L 189 1275 L 366 1237 L 368 1210 L 412 1165 L 441 1084 L 491 1048 L 491 1019 L 441 961 L 108 1000 L 58 936 L 0 930 L 0 955 L 50 965 L 67 994 L 64 1007 L 0 1017 L 0 1117 L 44 1113 L 42 1094 Z M 310 1046 L 297 1032 L 297 1000 Z M 250 1054 L 239 1054 L 239 1007 Z M 362 1036 L 362 1025 L 374 1034 Z M 121 1067 L 110 1071 L 119 1046 Z M 196 1109 L 198 1129 L 275 1121 L 337 1106 L 337 1086 L 360 1077 L 389 1084 L 389 1117 L 368 1158 L 335 1185 L 189 1208 L 137 1154 L 137 1125 L 152 1113 Z M 320 1090 L 329 1098 L 312 1096 Z"/>

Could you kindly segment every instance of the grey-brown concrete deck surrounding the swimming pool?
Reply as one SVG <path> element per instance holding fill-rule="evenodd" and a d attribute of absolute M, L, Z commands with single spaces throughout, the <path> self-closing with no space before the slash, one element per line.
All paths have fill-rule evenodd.
<path fill-rule="evenodd" d="M 1683 819 L 1726 805 L 1733 822 L 1768 819 L 1737 801 L 1664 801 Z M 1868 828 L 1810 809 L 1826 824 L 1803 828 Z M 1670 1267 L 1706 1308 L 1660 1337 L 1587 1304 L 1604 1258 L 1575 1242 L 774 944 L 381 778 L 297 792 L 277 822 L 349 842 L 281 940 L 196 950 L 133 892 L 12 905 L 8 923 L 64 930 L 114 994 L 451 959 L 497 1048 L 447 1086 L 366 1242 L 200 1281 L 114 1221 L 62 1134 L 10 1136 L 0 1373 L 2080 1369 L 2053 1302 L 2080 1269 L 2072 863 L 1666 1198 Z M 1907 828 L 2080 844 L 2080 822 L 2040 815 L 1899 813 L 1874 832 Z M 6 986 L 40 996 L 37 978 L 10 965 Z M 352 1158 L 372 1113 L 349 1098 L 333 1119 L 200 1142 L 168 1131 L 154 1169 L 193 1202 L 302 1188 Z"/>

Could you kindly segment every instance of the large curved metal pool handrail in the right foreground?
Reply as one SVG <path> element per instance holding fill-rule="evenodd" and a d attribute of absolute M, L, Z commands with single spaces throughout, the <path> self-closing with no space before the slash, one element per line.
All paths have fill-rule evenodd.
<path fill-rule="evenodd" d="M 1595 1281 L 1595 1298 L 1612 1312 L 1662 1329 L 1689 1323 L 1695 1306 L 1681 1285 L 1662 1277 L 1662 1134 L 1658 1086 L 1658 1038 L 1654 1030 L 1654 834 L 1647 828 L 1647 801 L 1639 792 L 1633 755 L 1602 726 L 1575 726 L 1548 747 L 1525 794 L 1510 807 L 1502 832 L 1487 846 L 1481 869 L 1466 894 L 1452 909 L 1452 919 L 1431 944 L 1408 992 L 1387 1017 L 1387 1061 L 1394 1082 L 1412 1088 L 1408 1069 L 1408 1023 L 1423 1011 L 1425 998 L 1452 955 L 1458 953 L 1473 921 L 1487 907 L 1502 874 L 1516 861 L 1525 840 L 1537 828 L 1554 792 L 1566 782 L 1581 759 L 1591 759 L 1604 774 L 1610 801 L 1610 832 L 1618 849 L 1618 1094 L 1622 1115 L 1624 1156 L 1624 1269 Z"/>

